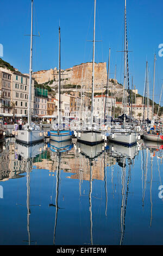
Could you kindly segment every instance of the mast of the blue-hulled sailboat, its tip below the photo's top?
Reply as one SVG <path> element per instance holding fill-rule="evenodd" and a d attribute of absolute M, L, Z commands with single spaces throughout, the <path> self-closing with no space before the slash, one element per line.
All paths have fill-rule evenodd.
<path fill-rule="evenodd" d="M 60 99 L 60 26 L 59 26 L 59 63 L 58 63 L 58 94 L 59 94 L 59 106 L 58 106 L 58 130 L 60 126 L 60 114 L 61 114 L 61 99 Z"/>

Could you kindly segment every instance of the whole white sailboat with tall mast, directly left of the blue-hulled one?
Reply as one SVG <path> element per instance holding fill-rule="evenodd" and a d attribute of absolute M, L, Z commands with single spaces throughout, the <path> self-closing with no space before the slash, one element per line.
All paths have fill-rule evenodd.
<path fill-rule="evenodd" d="M 29 95 L 28 95 L 28 123 L 22 127 L 22 130 L 15 132 L 16 141 L 24 144 L 32 144 L 43 141 L 44 131 L 39 125 L 31 121 L 31 100 L 32 100 L 32 54 L 33 54 L 33 0 L 31 15 L 31 34 L 30 34 L 30 68 L 29 68 Z"/>

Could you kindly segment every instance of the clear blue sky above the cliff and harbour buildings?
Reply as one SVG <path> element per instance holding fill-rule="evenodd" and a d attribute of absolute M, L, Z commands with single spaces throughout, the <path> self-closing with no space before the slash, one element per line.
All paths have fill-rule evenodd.
<path fill-rule="evenodd" d="M 149 94 L 159 103 L 163 83 L 162 0 L 127 0 L 127 36 L 130 88 L 143 95 L 146 62 L 149 68 Z M 61 69 L 92 61 L 94 0 L 34 0 L 33 71 L 58 68 L 58 28 L 61 29 Z M 3 57 L 22 73 L 29 72 L 30 0 L 0 1 L 0 44 Z M 110 78 L 123 84 L 124 0 L 96 1 L 95 62 L 108 66 Z M 163 51 L 162 51 L 163 53 Z M 163 96 L 161 97 L 161 106 Z"/>

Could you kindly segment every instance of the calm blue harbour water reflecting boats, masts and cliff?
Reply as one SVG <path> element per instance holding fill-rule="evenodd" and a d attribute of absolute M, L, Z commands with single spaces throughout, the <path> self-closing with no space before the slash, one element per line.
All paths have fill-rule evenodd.
<path fill-rule="evenodd" d="M 162 245 L 162 148 L 6 139 L 0 244 Z"/>

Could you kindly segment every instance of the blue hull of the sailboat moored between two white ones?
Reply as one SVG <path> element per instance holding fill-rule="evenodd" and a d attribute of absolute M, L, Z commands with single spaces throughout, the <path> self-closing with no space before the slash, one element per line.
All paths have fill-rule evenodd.
<path fill-rule="evenodd" d="M 70 130 L 65 131 L 50 131 L 50 139 L 55 142 L 70 141 L 72 135 Z"/>

